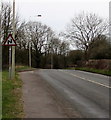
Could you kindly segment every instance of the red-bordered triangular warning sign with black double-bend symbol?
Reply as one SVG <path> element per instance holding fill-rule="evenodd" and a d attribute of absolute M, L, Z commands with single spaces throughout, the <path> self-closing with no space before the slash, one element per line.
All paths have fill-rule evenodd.
<path fill-rule="evenodd" d="M 16 41 L 13 39 L 12 34 L 9 34 L 7 39 L 3 42 L 3 46 L 16 46 Z"/>

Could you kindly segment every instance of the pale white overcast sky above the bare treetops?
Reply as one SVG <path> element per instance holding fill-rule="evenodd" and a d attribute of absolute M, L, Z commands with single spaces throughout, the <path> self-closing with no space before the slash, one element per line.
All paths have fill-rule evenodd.
<path fill-rule="evenodd" d="M 10 1 L 13 0 L 2 0 Z M 21 20 L 40 21 L 54 31 L 64 31 L 70 20 L 81 12 L 96 13 L 109 17 L 110 0 L 15 0 L 16 12 Z M 37 17 L 41 14 L 42 17 Z"/>

